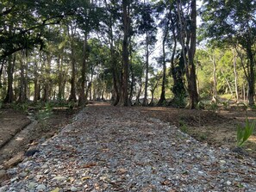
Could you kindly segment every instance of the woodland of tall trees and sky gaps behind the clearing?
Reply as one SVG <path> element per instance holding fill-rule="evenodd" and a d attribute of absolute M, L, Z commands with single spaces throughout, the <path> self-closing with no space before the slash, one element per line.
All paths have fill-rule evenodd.
<path fill-rule="evenodd" d="M 253 0 L 2 0 L 1 106 L 253 107 L 255 40 Z"/>

